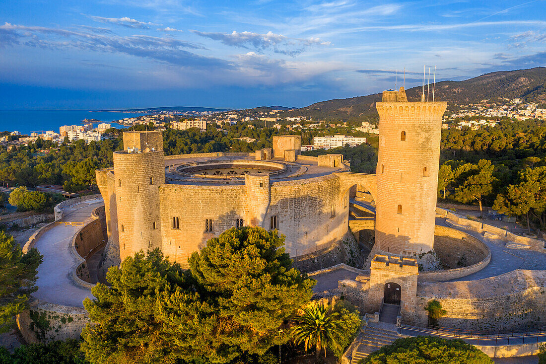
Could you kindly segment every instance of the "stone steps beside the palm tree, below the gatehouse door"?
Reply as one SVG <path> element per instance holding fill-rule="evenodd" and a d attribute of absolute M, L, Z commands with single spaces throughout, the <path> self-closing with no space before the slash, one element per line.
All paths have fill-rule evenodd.
<path fill-rule="evenodd" d="M 394 340 L 401 338 L 400 334 L 396 332 L 396 325 L 384 324 L 382 322 L 369 322 L 364 327 L 357 340 L 355 349 L 352 352 L 351 363 L 356 364 L 359 360 L 364 359 L 366 356 L 373 353 L 373 351 L 379 350 L 384 345 L 389 345 Z M 356 340 L 355 340 L 356 341 Z"/>

